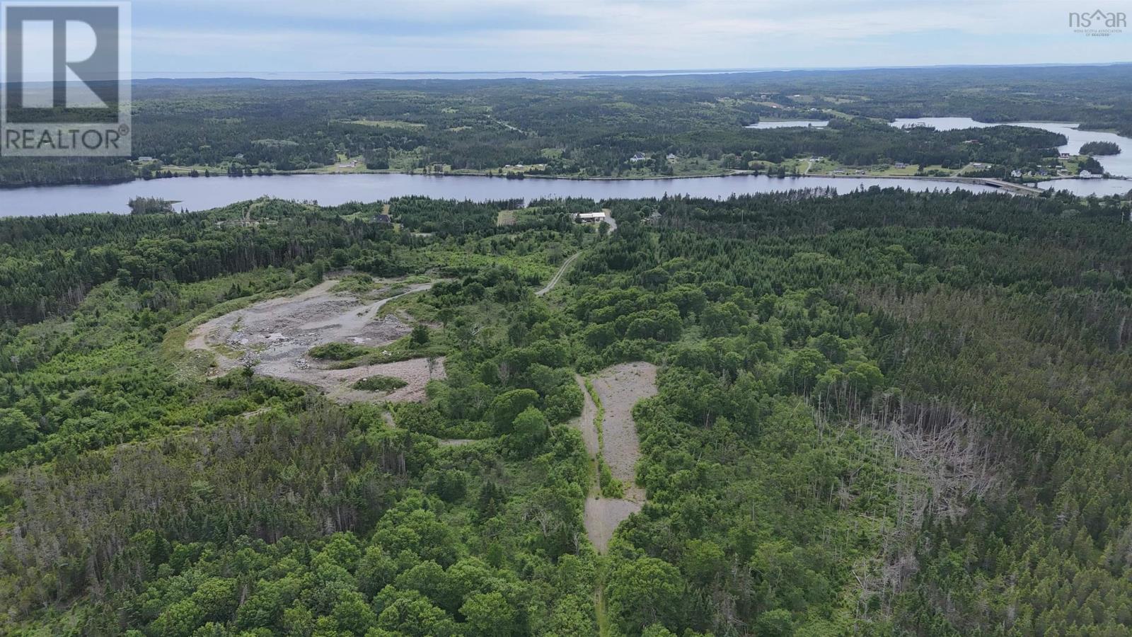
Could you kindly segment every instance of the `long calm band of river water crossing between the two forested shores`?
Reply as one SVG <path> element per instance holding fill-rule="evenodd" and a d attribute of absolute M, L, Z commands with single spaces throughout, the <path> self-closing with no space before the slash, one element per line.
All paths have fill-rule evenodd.
<path fill-rule="evenodd" d="M 1077 180 L 1071 180 L 1077 181 Z M 1099 179 L 1095 181 L 1100 181 Z M 849 193 L 880 186 L 909 190 L 990 193 L 996 188 L 876 177 L 700 177 L 692 179 L 500 179 L 497 177 L 436 177 L 427 175 L 276 175 L 272 177 L 175 177 L 101 186 L 46 186 L 0 190 L 0 216 L 127 212 L 131 197 L 161 197 L 180 202 L 178 210 L 208 210 L 264 195 L 316 201 L 323 205 L 372 202 L 405 195 L 443 199 L 516 199 L 590 197 L 593 199 L 662 197 L 664 195 L 724 198 L 731 195 L 775 193 L 801 188 L 834 188 Z M 1132 184 L 1129 186 L 1132 188 Z"/>

